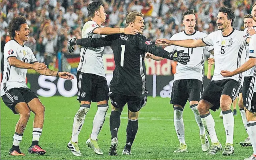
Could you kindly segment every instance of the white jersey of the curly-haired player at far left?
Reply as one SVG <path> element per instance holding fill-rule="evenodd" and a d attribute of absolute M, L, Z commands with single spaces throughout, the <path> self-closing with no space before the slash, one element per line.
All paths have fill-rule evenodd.
<path fill-rule="evenodd" d="M 16 57 L 25 63 L 37 62 L 32 50 L 28 46 L 21 46 L 14 39 L 8 41 L 4 46 L 4 73 L 1 83 L 1 96 L 5 94 L 10 96 L 7 91 L 12 88 L 28 88 L 26 85 L 27 69 L 10 66 L 8 62 L 9 57 Z"/>

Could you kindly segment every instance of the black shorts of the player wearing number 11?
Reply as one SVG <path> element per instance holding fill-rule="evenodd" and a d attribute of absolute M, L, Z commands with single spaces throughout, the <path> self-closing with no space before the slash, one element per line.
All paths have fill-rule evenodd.
<path fill-rule="evenodd" d="M 203 83 L 198 79 L 179 79 L 173 83 L 170 103 L 184 107 L 187 100 L 199 102 L 202 93 Z"/>

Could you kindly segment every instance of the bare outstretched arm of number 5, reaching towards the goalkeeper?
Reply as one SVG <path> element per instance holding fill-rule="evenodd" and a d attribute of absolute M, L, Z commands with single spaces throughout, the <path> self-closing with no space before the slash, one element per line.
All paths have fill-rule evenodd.
<path fill-rule="evenodd" d="M 186 48 L 196 48 L 196 47 L 203 47 L 206 44 L 203 42 L 202 39 L 186 39 L 186 40 L 168 40 L 165 38 L 157 39 L 156 44 L 158 45 L 177 45 Z"/>

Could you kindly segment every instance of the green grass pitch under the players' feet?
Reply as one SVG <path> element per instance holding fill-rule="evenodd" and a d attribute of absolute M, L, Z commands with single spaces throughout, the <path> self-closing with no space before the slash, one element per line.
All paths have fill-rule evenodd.
<path fill-rule="evenodd" d="M 118 156 L 107 154 L 110 144 L 109 115 L 108 110 L 106 121 L 98 136 L 98 144 L 103 151 L 103 155 L 95 155 L 92 149 L 85 145 L 86 140 L 92 130 L 92 121 L 96 113 L 96 103 L 91 105 L 91 109 L 86 116 L 85 123 L 79 135 L 79 147 L 82 157 L 75 157 L 67 148 L 72 134 L 74 116 L 79 108 L 76 97 L 40 97 L 45 105 L 45 124 L 39 145 L 47 151 L 44 156 L 31 155 L 27 152 L 32 141 L 32 124 L 34 115 L 31 113 L 20 149 L 26 154 L 25 157 L 9 156 L 8 151 L 13 143 L 15 125 L 19 119 L 11 110 L 4 105 L 1 99 L 1 157 L 0 159 L 244 159 L 252 155 L 252 147 L 243 148 L 239 145 L 247 134 L 245 132 L 240 112 L 235 117 L 234 147 L 235 155 L 223 156 L 218 152 L 215 156 L 206 156 L 201 151 L 199 129 L 195 122 L 194 114 L 187 104 L 183 119 L 185 124 L 185 140 L 188 146 L 188 153 L 173 153 L 179 147 L 179 141 L 173 124 L 173 107 L 169 104 L 169 99 L 148 98 L 147 105 L 142 108 L 139 115 L 139 130 L 135 142 L 132 146 L 132 155 L 121 155 L 126 142 L 127 107 L 121 115 L 121 125 L 118 132 Z M 225 145 L 226 135 L 222 120 L 218 117 L 218 112 L 211 112 L 215 119 L 215 129 L 222 145 Z"/>

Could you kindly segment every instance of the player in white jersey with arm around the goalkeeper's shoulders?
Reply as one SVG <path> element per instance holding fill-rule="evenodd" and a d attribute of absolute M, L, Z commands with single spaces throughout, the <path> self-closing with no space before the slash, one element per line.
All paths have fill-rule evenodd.
<path fill-rule="evenodd" d="M 139 31 L 133 28 L 109 28 L 101 24 L 106 20 L 106 12 L 101 2 L 92 2 L 88 6 L 91 20 L 86 22 L 82 29 L 82 38 L 104 37 L 106 34 L 125 33 L 136 34 Z M 78 147 L 78 136 L 85 121 L 86 114 L 90 110 L 91 102 L 97 102 L 97 112 L 93 119 L 92 133 L 86 141 L 86 145 L 96 154 L 102 155 L 97 143 L 97 136 L 105 121 L 108 110 L 108 85 L 105 78 L 103 65 L 104 47 L 82 47 L 80 62 L 77 67 L 77 87 L 80 108 L 73 122 L 72 137 L 67 147 L 75 156 L 82 156 Z"/>

